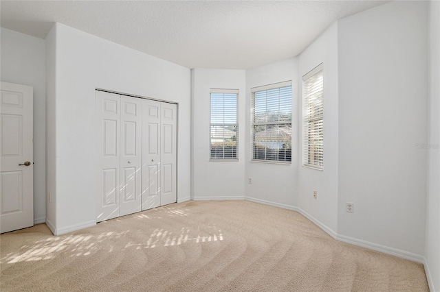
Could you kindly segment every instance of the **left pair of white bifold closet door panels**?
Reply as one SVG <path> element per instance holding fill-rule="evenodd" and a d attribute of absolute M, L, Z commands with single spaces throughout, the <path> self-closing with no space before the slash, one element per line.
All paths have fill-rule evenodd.
<path fill-rule="evenodd" d="M 97 221 L 141 210 L 142 99 L 96 91 Z"/>

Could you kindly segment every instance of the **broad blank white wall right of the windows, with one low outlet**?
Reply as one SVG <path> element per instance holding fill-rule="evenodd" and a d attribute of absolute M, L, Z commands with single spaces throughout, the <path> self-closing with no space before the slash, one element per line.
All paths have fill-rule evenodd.
<path fill-rule="evenodd" d="M 338 233 L 419 258 L 427 158 L 416 145 L 428 138 L 427 16 L 426 2 L 393 1 L 338 23 Z"/>

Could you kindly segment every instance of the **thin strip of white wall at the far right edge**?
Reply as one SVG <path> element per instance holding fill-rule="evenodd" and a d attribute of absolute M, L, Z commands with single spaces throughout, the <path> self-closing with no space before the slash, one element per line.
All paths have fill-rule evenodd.
<path fill-rule="evenodd" d="M 426 204 L 426 270 L 440 291 L 440 2 L 430 1 L 430 132 Z"/>

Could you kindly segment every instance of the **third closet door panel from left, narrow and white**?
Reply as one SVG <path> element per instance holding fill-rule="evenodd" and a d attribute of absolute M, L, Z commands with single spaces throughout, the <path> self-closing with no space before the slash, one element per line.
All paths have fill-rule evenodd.
<path fill-rule="evenodd" d="M 144 99 L 142 121 L 142 210 L 160 206 L 161 103 Z"/>

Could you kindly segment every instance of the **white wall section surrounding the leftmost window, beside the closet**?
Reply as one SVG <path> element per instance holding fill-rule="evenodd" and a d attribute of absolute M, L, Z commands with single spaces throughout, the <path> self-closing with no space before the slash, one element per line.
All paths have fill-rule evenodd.
<path fill-rule="evenodd" d="M 210 88 L 239 89 L 239 160 L 210 161 Z M 192 69 L 192 199 L 244 199 L 245 71 Z"/>

